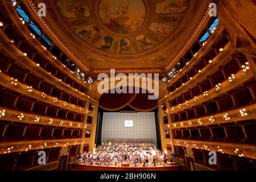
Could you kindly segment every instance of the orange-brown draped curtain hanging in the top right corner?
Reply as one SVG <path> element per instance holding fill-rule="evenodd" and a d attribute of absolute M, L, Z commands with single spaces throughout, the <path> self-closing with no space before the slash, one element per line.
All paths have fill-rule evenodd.
<path fill-rule="evenodd" d="M 256 57 L 255 3 L 255 0 L 217 1 L 218 17 L 229 32 L 232 46 L 251 57 Z"/>

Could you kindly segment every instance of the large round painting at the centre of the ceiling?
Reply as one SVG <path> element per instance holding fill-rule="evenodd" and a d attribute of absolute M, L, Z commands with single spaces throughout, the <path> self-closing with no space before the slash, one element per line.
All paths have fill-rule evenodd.
<path fill-rule="evenodd" d="M 99 12 L 104 25 L 119 34 L 137 30 L 146 14 L 142 0 L 102 0 Z"/>

